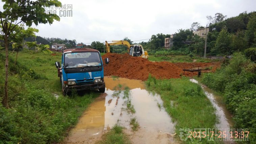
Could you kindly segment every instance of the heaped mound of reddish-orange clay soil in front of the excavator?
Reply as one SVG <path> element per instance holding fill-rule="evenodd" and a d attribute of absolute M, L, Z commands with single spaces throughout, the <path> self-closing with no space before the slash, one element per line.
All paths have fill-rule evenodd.
<path fill-rule="evenodd" d="M 189 67 L 212 66 L 208 63 L 171 63 L 151 62 L 148 59 L 132 57 L 129 54 L 107 53 L 102 56 L 103 60 L 109 58 L 109 64 L 104 67 L 105 76 L 119 76 L 122 78 L 146 81 L 149 74 L 157 79 L 180 78 L 183 75 L 182 69 Z M 105 62 L 104 62 L 105 64 Z M 197 75 L 197 73 L 185 72 L 186 76 Z"/>

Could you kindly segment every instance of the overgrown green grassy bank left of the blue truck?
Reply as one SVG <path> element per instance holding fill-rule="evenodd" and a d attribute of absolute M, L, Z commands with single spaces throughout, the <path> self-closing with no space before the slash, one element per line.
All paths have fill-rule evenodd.
<path fill-rule="evenodd" d="M 55 61 L 61 54 L 19 52 L 9 57 L 9 106 L 0 104 L 0 143 L 54 143 L 61 141 L 97 92 L 62 96 Z M 0 51 L 0 98 L 4 94 L 4 51 Z"/>

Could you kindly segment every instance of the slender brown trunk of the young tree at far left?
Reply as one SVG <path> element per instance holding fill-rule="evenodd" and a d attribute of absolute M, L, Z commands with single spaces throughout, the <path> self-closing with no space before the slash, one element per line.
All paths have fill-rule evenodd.
<path fill-rule="evenodd" d="M 9 108 L 8 105 L 8 37 L 5 35 L 4 37 L 4 43 L 5 43 L 5 87 L 4 87 L 4 92 L 5 95 L 3 97 L 3 106 L 6 108 Z"/>

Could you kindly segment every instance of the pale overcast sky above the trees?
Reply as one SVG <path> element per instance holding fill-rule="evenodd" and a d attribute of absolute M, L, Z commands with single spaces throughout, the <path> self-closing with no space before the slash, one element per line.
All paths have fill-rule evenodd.
<path fill-rule="evenodd" d="M 37 35 L 76 39 L 77 42 L 135 41 L 153 34 L 173 34 L 193 22 L 206 26 L 206 16 L 220 12 L 227 17 L 255 11 L 255 0 L 59 0 L 72 4 L 72 17 L 60 17 L 52 25 L 33 25 Z M 2 9 L 1 4 L 1 9 Z M 59 14 L 59 10 L 57 11 Z M 147 41 L 147 40 L 144 40 Z"/>

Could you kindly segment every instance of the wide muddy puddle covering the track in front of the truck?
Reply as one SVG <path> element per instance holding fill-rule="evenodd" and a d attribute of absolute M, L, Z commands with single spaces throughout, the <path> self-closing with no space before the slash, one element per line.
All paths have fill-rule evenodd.
<path fill-rule="evenodd" d="M 104 81 L 105 93 L 84 112 L 65 143 L 95 143 L 116 123 L 126 127 L 125 133 L 133 143 L 173 141 L 170 135 L 174 133 L 174 123 L 162 107 L 159 95 L 149 93 L 139 80 L 105 77 Z M 127 108 L 127 102 L 135 112 Z M 138 131 L 131 129 L 132 118 L 139 123 Z"/>

